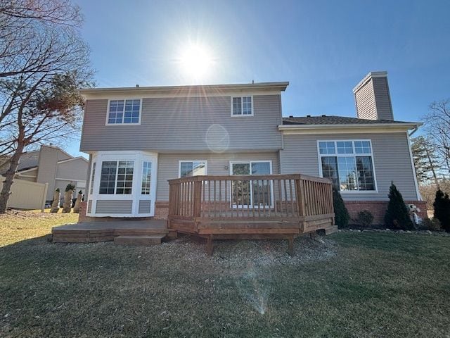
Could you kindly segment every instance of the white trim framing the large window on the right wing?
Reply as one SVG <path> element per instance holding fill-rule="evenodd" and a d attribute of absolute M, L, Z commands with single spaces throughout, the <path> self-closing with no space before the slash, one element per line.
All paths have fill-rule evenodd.
<path fill-rule="evenodd" d="M 356 154 L 354 151 L 354 142 L 366 141 L 371 145 L 370 153 Z M 321 154 L 319 142 L 334 142 L 336 154 Z M 352 142 L 353 154 L 338 154 L 338 144 L 336 142 Z M 354 157 L 356 156 L 371 156 L 372 171 L 373 171 L 373 185 L 375 190 L 339 190 L 340 194 L 375 194 L 378 193 L 377 175 L 375 173 L 375 158 L 373 157 L 373 146 L 371 139 L 318 139 L 317 140 L 317 159 L 319 161 L 319 176 L 323 177 L 322 173 L 322 157 Z M 338 177 L 339 180 L 339 177 Z"/>

